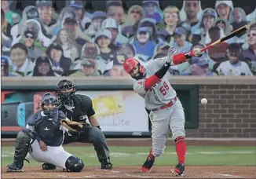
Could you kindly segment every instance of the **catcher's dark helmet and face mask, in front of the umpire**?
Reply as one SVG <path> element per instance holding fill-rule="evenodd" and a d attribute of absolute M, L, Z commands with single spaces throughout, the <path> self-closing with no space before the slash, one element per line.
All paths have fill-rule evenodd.
<path fill-rule="evenodd" d="M 59 100 L 53 96 L 52 93 L 45 93 L 42 96 L 42 111 L 48 117 L 53 117 L 53 114 L 57 113 L 57 108 L 59 107 Z"/>

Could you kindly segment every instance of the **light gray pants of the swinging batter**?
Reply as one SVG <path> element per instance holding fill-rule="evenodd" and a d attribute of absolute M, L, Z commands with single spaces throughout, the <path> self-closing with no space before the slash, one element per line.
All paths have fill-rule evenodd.
<path fill-rule="evenodd" d="M 166 148 L 166 140 L 169 129 L 173 138 L 185 137 L 185 113 L 181 101 L 177 101 L 170 107 L 151 111 L 149 118 L 152 122 L 152 152 L 158 157 Z"/>

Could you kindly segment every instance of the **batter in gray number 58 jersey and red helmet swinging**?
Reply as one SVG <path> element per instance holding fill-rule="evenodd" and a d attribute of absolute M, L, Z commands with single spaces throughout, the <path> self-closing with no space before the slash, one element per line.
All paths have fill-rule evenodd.
<path fill-rule="evenodd" d="M 200 49 L 174 55 L 176 52 L 171 47 L 167 57 L 150 60 L 144 66 L 134 58 L 128 58 L 123 63 L 126 72 L 134 79 L 133 90 L 144 97 L 145 108 L 150 111 L 152 148 L 141 167 L 144 173 L 150 172 L 155 157 L 163 154 L 169 129 L 174 137 L 178 159 L 177 166 L 171 172 L 176 176 L 183 176 L 185 172 L 185 114 L 175 90 L 166 78 L 166 71 L 171 65 L 181 64 L 202 53 Z"/>

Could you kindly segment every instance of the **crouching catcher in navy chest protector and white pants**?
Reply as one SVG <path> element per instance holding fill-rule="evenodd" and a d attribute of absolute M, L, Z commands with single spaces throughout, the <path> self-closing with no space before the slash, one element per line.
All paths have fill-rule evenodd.
<path fill-rule="evenodd" d="M 6 172 L 21 172 L 27 152 L 38 163 L 50 163 L 69 172 L 80 172 L 84 167 L 82 160 L 64 151 L 62 143 L 64 133 L 79 129 L 82 125 L 71 122 L 62 111 L 57 109 L 58 100 L 52 93 L 42 97 L 42 110 L 35 112 L 27 120 L 27 126 L 16 136 L 13 163 L 7 166 Z M 64 120 L 64 121 L 63 121 Z M 63 124 L 61 124 L 63 122 Z M 66 128 L 68 127 L 68 129 Z"/>

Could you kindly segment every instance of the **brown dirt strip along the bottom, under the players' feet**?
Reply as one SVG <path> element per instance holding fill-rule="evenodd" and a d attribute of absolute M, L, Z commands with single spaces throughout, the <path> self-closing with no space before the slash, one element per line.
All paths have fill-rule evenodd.
<path fill-rule="evenodd" d="M 3 168 L 2 168 L 3 169 Z M 5 170 L 5 169 L 3 169 Z M 149 174 L 143 174 L 138 166 L 115 167 L 114 170 L 86 168 L 81 173 L 61 170 L 42 171 L 27 168 L 23 173 L 2 173 L 2 178 L 172 178 L 170 166 L 155 166 Z M 188 166 L 186 178 L 255 178 L 255 166 Z"/>

